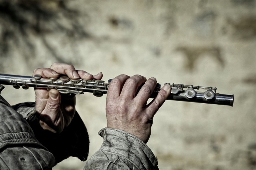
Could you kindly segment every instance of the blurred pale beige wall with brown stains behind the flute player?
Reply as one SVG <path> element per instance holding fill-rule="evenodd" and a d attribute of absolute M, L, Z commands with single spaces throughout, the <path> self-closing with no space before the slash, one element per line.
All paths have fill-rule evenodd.
<path fill-rule="evenodd" d="M 159 169 L 256 169 L 255 54 L 255 0 L 0 0 L 1 73 L 65 62 L 105 81 L 140 74 L 234 94 L 233 108 L 166 101 L 148 142 Z M 34 101 L 31 88 L 6 87 L 2 96 Z M 103 141 L 105 100 L 77 95 L 89 158 Z M 53 169 L 83 166 L 69 158 Z"/>

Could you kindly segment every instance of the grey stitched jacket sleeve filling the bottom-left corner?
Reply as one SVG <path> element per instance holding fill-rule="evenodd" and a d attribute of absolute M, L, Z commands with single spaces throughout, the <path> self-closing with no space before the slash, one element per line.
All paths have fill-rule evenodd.
<path fill-rule="evenodd" d="M 0 95 L 0 169 L 50 169 L 55 158 L 23 117 Z"/>

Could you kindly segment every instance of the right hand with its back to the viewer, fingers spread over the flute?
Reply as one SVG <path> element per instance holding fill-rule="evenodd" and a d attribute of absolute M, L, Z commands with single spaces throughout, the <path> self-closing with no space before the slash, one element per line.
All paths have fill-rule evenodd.
<path fill-rule="evenodd" d="M 135 97 L 138 87 L 143 83 L 145 84 Z M 153 117 L 171 93 L 170 86 L 166 84 L 147 104 L 155 86 L 154 77 L 148 81 L 140 75 L 132 77 L 120 75 L 112 79 L 106 101 L 107 127 L 124 130 L 143 142 L 148 142 Z"/>

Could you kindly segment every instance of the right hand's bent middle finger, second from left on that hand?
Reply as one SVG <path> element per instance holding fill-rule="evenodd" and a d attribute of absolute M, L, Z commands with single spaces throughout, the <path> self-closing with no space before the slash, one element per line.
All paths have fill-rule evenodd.
<path fill-rule="evenodd" d="M 146 78 L 140 75 L 134 75 L 127 79 L 125 82 L 120 97 L 125 100 L 131 100 L 135 97 L 135 93 L 138 90 L 138 87 L 142 83 L 146 82 Z"/>

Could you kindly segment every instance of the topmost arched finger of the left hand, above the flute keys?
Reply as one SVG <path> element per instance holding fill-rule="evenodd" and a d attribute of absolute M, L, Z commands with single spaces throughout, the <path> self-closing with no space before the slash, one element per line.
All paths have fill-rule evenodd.
<path fill-rule="evenodd" d="M 59 74 L 67 75 L 69 78 L 78 79 L 80 78 L 78 73 L 75 70 L 75 67 L 70 64 L 65 63 L 53 63 L 50 68 L 56 71 Z"/>

